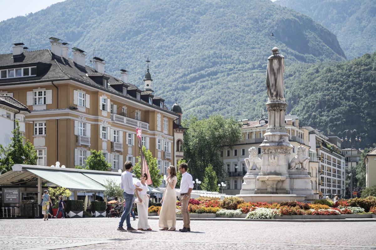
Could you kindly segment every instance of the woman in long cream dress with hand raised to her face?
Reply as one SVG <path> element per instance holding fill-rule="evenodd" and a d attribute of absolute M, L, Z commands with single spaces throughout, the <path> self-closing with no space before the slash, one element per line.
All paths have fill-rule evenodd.
<path fill-rule="evenodd" d="M 167 168 L 168 177 L 166 178 L 167 187 L 163 194 L 162 208 L 159 213 L 159 230 L 175 231 L 176 227 L 176 191 L 177 182 L 176 169 L 174 166 Z M 170 229 L 168 229 L 170 228 Z"/>

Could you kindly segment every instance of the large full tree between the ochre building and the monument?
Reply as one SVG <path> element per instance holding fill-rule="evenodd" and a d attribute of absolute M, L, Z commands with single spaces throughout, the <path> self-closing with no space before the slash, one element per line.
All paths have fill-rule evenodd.
<path fill-rule="evenodd" d="M 189 129 L 184 132 L 184 158 L 189 161 L 194 179 L 203 180 L 206 166 L 211 164 L 218 180 L 224 180 L 223 162 L 219 151 L 232 146 L 242 138 L 241 124 L 235 118 L 212 115 L 198 120 L 192 117 L 183 122 Z"/>

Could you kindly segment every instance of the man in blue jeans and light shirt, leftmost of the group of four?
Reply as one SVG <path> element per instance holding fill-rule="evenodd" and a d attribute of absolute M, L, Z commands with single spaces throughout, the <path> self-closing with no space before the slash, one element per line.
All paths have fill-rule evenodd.
<path fill-rule="evenodd" d="M 132 169 L 133 165 L 132 162 L 126 161 L 124 163 L 125 171 L 123 174 L 121 174 L 121 184 L 120 187 L 121 189 L 124 190 L 124 210 L 123 214 L 121 215 L 121 219 L 119 222 L 119 226 L 117 228 L 118 231 L 126 232 L 126 231 L 136 231 L 136 229 L 132 228 L 130 225 L 130 211 L 132 210 L 132 205 L 133 205 L 133 195 L 135 193 L 135 190 L 142 191 L 141 188 L 135 187 L 133 185 L 132 181 Z M 127 222 L 127 230 L 123 228 L 124 220 Z"/>

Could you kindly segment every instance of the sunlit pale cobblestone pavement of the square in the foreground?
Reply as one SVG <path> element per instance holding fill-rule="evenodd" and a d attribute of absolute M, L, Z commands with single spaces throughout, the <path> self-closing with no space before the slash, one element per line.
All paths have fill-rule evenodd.
<path fill-rule="evenodd" d="M 375 222 L 191 221 L 192 232 L 116 231 L 117 218 L 0 220 L 0 249 L 376 249 Z M 131 221 L 134 228 L 137 220 Z M 182 221 L 177 221 L 177 228 Z"/>

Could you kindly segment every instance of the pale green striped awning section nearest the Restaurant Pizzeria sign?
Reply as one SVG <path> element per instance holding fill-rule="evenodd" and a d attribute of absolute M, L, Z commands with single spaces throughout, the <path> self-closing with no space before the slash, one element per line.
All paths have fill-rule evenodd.
<path fill-rule="evenodd" d="M 71 191 L 103 192 L 105 188 L 80 172 L 61 171 L 59 169 L 25 168 L 56 186 L 66 187 Z M 53 185 L 52 185 L 53 186 Z"/>

